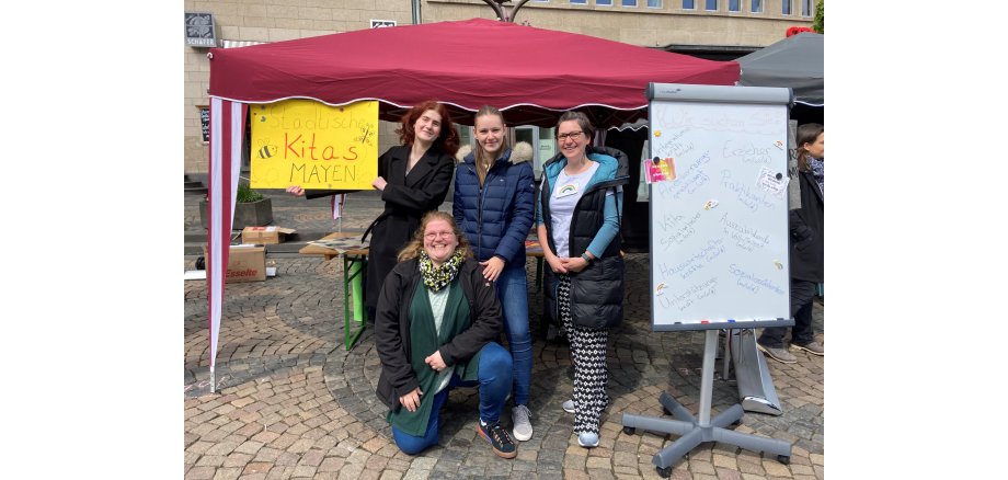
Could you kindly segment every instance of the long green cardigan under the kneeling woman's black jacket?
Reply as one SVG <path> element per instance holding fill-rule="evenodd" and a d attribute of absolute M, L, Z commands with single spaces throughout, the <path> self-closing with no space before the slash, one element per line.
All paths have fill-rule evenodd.
<path fill-rule="evenodd" d="M 420 408 L 415 412 L 410 412 L 400 408 L 398 412 L 389 411 L 387 420 L 402 432 L 422 436 L 427 431 L 427 422 L 431 420 L 431 409 L 434 407 L 434 389 L 437 387 L 437 372 L 424 363 L 424 358 L 447 344 L 456 335 L 465 332 L 472 323 L 470 319 L 469 302 L 466 300 L 466 294 L 458 281 L 450 282 L 448 285 L 448 302 L 445 305 L 445 313 L 442 320 L 440 332 L 434 325 L 434 311 L 431 309 L 431 299 L 427 297 L 427 289 L 421 285 L 416 286 L 413 298 L 410 301 L 410 366 L 413 367 L 413 375 L 416 376 L 416 382 L 420 385 Z M 480 365 L 480 354 L 477 353 L 465 362 L 449 366 L 462 380 L 470 381 L 478 379 Z"/>

